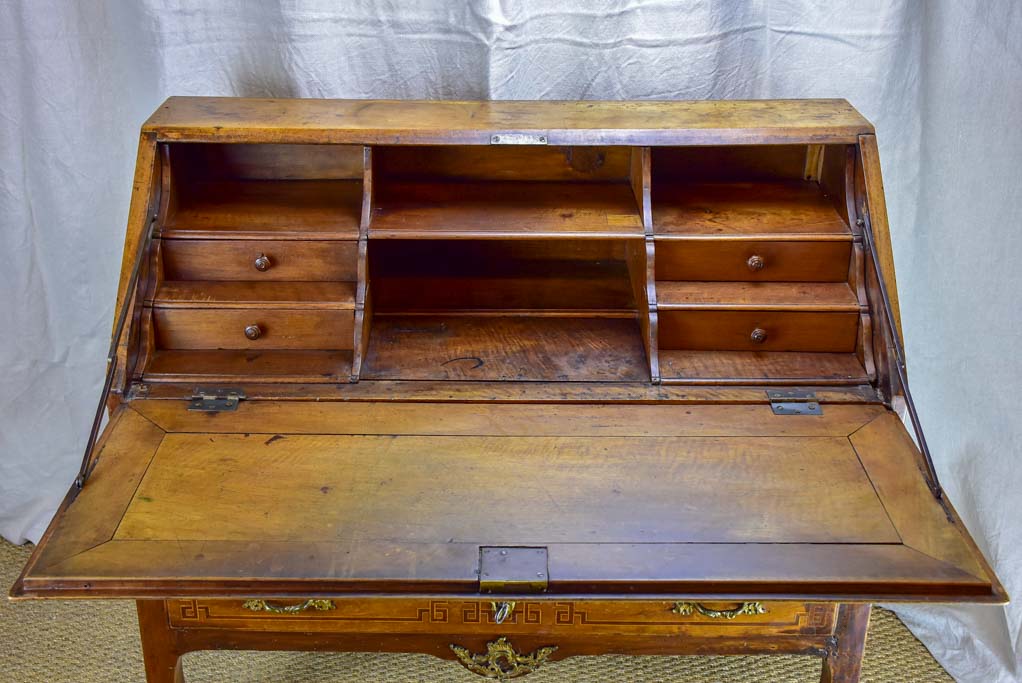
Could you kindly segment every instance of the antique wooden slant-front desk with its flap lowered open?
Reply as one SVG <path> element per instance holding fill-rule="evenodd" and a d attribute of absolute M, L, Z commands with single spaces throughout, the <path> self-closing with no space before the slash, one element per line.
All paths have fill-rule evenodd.
<path fill-rule="evenodd" d="M 172 98 L 124 264 L 109 423 L 12 595 L 137 599 L 151 683 L 203 648 L 847 683 L 872 601 L 1007 599 L 843 100 Z"/>

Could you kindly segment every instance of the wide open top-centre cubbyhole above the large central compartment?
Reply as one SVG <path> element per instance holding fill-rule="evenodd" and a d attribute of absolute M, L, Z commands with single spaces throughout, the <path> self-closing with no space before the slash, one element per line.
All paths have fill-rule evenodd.
<path fill-rule="evenodd" d="M 373 153 L 371 237 L 644 232 L 629 147 L 384 146 Z"/>

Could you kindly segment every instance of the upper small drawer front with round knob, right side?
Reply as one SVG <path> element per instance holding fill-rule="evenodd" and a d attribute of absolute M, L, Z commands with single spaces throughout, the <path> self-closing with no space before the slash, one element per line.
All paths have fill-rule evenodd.
<path fill-rule="evenodd" d="M 656 279 L 844 282 L 849 241 L 657 240 Z"/>

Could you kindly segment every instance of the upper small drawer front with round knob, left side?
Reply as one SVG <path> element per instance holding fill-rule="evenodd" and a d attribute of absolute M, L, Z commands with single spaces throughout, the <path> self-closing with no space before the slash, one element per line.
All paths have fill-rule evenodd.
<path fill-rule="evenodd" d="M 162 252 L 168 280 L 358 279 L 354 241 L 166 239 Z"/>

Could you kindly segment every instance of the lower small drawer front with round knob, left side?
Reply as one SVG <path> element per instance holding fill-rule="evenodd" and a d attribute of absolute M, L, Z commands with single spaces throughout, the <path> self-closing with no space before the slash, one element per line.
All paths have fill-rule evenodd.
<path fill-rule="evenodd" d="M 170 350 L 355 347 L 353 311 L 154 309 L 156 346 Z"/>

